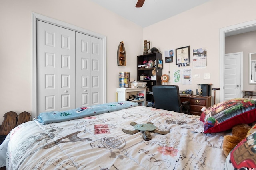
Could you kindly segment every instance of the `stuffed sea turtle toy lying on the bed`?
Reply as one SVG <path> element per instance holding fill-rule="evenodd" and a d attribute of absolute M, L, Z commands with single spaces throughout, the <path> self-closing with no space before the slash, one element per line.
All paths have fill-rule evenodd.
<path fill-rule="evenodd" d="M 137 124 L 136 122 L 131 122 L 130 125 L 134 126 L 135 130 L 122 129 L 122 131 L 130 135 L 138 133 L 140 131 L 144 131 L 142 137 L 145 141 L 151 140 L 150 132 L 159 133 L 162 135 L 166 135 L 167 133 L 169 133 L 169 131 L 156 130 L 156 126 L 151 122 L 147 122 L 146 124 Z"/>

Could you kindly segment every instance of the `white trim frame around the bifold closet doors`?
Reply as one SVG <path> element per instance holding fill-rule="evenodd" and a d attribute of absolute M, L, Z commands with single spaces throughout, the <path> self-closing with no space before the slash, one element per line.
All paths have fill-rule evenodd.
<path fill-rule="evenodd" d="M 101 35 L 92 31 L 89 31 L 87 29 L 77 27 L 74 25 L 71 25 L 69 23 L 65 23 L 63 21 L 59 21 L 47 16 L 43 16 L 41 14 L 37 14 L 35 12 L 32 12 L 32 117 L 37 117 L 37 67 L 36 67 L 36 20 L 44 21 L 47 23 L 54 24 L 59 27 L 64 27 L 66 29 L 71 29 L 73 31 L 77 31 L 80 33 L 84 33 L 86 35 L 90 35 L 92 37 L 96 37 L 98 39 L 102 39 L 102 64 L 103 64 L 103 74 L 102 74 L 102 97 L 103 103 L 106 103 L 106 36 Z"/>

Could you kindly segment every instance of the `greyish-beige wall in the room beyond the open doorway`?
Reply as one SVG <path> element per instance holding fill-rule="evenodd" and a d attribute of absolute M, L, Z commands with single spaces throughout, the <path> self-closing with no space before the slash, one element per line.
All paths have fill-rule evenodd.
<path fill-rule="evenodd" d="M 243 89 L 256 90 L 255 84 L 249 84 L 249 53 L 256 53 L 256 31 L 242 33 L 225 38 L 225 52 L 243 52 Z"/>

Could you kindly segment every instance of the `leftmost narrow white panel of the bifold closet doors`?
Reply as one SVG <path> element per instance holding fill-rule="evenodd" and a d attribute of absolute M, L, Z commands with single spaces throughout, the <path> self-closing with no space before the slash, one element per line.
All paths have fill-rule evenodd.
<path fill-rule="evenodd" d="M 58 27 L 37 21 L 38 114 L 58 109 Z"/>

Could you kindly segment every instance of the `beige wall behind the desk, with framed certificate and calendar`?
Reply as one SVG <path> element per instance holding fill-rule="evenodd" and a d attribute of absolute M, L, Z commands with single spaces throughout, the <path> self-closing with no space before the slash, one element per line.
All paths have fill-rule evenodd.
<path fill-rule="evenodd" d="M 178 14 L 164 21 L 143 29 L 143 39 L 152 43 L 160 51 L 176 49 L 190 45 L 193 49 L 207 48 L 206 68 L 192 69 L 192 85 L 174 83 L 172 74 L 178 68 L 175 63 L 164 63 L 163 74 L 170 70 L 171 84 L 176 84 L 182 90 L 196 90 L 197 84 L 212 83 L 212 88 L 220 88 L 220 28 L 255 20 L 254 0 L 210 0 L 191 10 Z M 191 56 L 190 56 L 191 57 Z M 190 58 L 191 60 L 192 58 Z M 204 73 L 210 73 L 210 79 L 203 79 Z M 200 78 L 194 77 L 200 75 Z M 216 91 L 216 102 L 219 101 L 219 91 Z"/>

